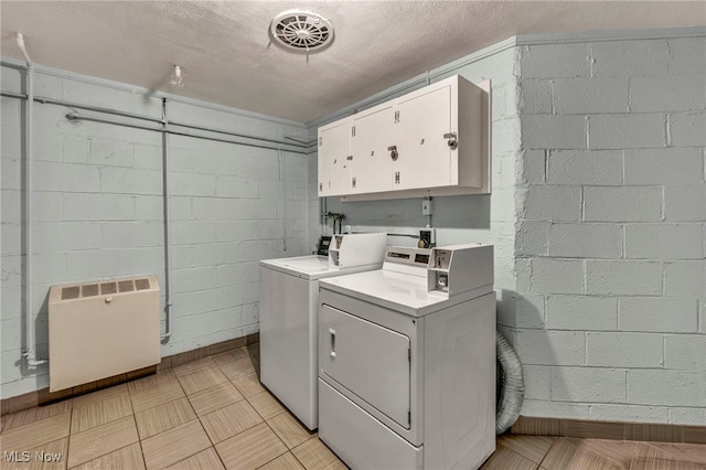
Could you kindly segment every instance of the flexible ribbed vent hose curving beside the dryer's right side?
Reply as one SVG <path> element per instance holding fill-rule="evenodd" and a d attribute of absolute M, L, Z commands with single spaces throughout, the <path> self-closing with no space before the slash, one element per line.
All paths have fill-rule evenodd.
<path fill-rule="evenodd" d="M 495 332 L 498 351 L 498 404 L 495 414 L 495 434 L 505 432 L 520 416 L 525 396 L 525 381 L 522 376 L 520 357 L 500 331 Z"/>

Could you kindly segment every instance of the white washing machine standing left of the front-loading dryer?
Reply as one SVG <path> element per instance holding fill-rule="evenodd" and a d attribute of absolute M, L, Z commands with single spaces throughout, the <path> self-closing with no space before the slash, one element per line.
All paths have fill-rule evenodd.
<path fill-rule="evenodd" d="M 387 235 L 334 235 L 329 256 L 260 261 L 260 382 L 309 429 L 318 427 L 319 279 L 379 269 Z"/>

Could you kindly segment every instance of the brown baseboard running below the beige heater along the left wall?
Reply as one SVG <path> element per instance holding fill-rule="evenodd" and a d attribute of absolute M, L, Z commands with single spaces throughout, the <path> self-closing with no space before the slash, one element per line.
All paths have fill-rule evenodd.
<path fill-rule="evenodd" d="M 259 338 L 259 333 L 253 333 L 248 334 L 247 337 L 236 338 L 235 340 L 223 341 L 221 343 L 211 344 L 180 354 L 165 356 L 162 357 L 161 362 L 157 365 L 131 371 L 126 374 L 118 374 L 111 377 L 101 378 L 100 381 L 90 382 L 88 384 L 66 388 L 64 391 L 50 393 L 49 388 L 42 388 L 40 391 L 30 392 L 24 395 L 4 398 L 0 402 L 0 415 L 4 416 L 11 413 L 22 412 L 23 409 L 34 408 L 35 406 L 49 405 L 50 403 L 55 403 L 62 399 L 95 392 L 100 388 L 111 387 L 124 382 L 129 382 L 136 378 L 143 377 L 146 375 L 154 374 L 159 370 L 174 367 L 192 361 L 196 361 L 199 359 L 207 357 L 210 355 L 215 355 L 225 351 L 231 351 L 249 344 L 258 343 Z"/>

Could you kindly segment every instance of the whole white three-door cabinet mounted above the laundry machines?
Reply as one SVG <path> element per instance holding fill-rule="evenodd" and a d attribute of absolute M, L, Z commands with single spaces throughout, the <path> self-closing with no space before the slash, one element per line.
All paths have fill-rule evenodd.
<path fill-rule="evenodd" d="M 454 75 L 321 127 L 319 195 L 490 193 L 489 109 L 490 82 Z"/>

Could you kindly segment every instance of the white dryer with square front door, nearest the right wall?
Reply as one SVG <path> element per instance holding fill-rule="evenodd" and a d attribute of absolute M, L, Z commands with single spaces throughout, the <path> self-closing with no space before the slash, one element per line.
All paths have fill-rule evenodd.
<path fill-rule="evenodd" d="M 319 282 L 319 438 L 353 469 L 474 469 L 495 449 L 492 245 L 387 248 Z"/>

